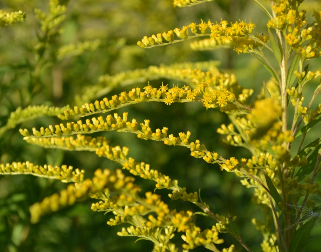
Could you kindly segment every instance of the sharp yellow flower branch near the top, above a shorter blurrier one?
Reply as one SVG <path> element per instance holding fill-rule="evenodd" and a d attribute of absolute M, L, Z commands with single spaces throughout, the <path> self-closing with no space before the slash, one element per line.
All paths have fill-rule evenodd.
<path fill-rule="evenodd" d="M 246 36 L 251 34 L 255 27 L 255 24 L 252 24 L 251 21 L 249 23 L 246 23 L 245 21 L 236 21 L 235 23 L 231 23 L 230 26 L 228 25 L 229 23 L 225 20 L 222 20 L 220 23 L 213 23 L 210 20 L 206 23 L 202 20 L 198 25 L 196 23 L 191 23 L 188 26 L 183 26 L 182 29 L 175 28 L 174 30 L 169 30 L 167 33 L 153 34 L 152 37 L 145 36 L 142 41 L 137 42 L 137 45 L 142 48 L 149 48 L 202 36 L 211 36 L 213 38 L 221 36 Z M 188 36 L 188 28 L 195 34 L 194 36 Z M 197 28 L 201 33 L 198 33 Z M 208 30 L 210 33 L 208 33 Z M 174 33 L 180 39 L 175 40 Z"/>

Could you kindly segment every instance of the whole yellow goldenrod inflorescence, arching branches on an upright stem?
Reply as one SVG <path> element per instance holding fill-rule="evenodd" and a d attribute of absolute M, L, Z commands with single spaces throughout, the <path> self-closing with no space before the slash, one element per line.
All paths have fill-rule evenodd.
<path fill-rule="evenodd" d="M 174 0 L 174 5 L 184 7 L 202 2 L 207 1 Z M 146 192 L 145 197 L 139 196 L 138 192 L 141 189 L 134 184 L 134 178 L 125 176 L 119 169 L 115 172 L 98 169 L 92 179 L 84 180 L 84 171 L 73 170 L 71 166 L 68 168 L 65 165 L 38 166 L 30 162 L 1 165 L 0 174 L 31 174 L 74 183 L 68 185 L 60 194 L 55 193 L 44 198 L 42 202 L 32 205 L 31 222 L 36 223 L 41 216 L 71 206 L 76 200 L 88 195 L 98 200 L 91 206 L 93 211 L 112 212 L 115 215 L 109 219 L 108 225 L 130 224 L 130 227 L 127 229 L 123 227 L 117 233 L 119 236 L 136 236 L 139 239 L 150 240 L 154 243 L 153 251 L 177 251 L 175 244 L 170 242 L 175 232 L 184 232 L 181 237 L 186 242 L 183 245 L 186 250 L 204 246 L 209 250 L 220 252 L 215 246 L 223 243 L 218 234 L 228 232 L 247 251 L 252 251 L 241 238 L 235 223 L 236 216 L 232 218 L 214 214 L 209 206 L 202 202 L 197 192 L 188 194 L 185 187 L 178 186 L 177 180 L 151 169 L 149 164 L 136 162 L 132 157 L 127 157 L 129 151 L 127 147 L 111 147 L 105 137 L 93 138 L 85 135 L 102 131 L 129 132 L 136 134 L 140 139 L 188 147 L 192 156 L 203 158 L 207 163 L 217 163 L 221 170 L 234 172 L 242 178 L 241 183 L 244 186 L 254 188 L 254 202 L 264 210 L 265 224 L 256 219 L 252 220 L 264 236 L 261 244 L 263 251 L 302 251 L 309 239 L 309 235 L 302 238 L 303 232 L 306 233 L 308 228 L 312 229 L 320 214 L 320 207 L 316 206 L 316 202 L 310 199 L 309 195 L 321 195 L 319 184 L 315 182 L 320 171 L 321 140 L 316 139 L 305 147 L 303 142 L 308 130 L 321 121 L 321 104 L 315 110 L 310 109 L 321 91 L 321 85 L 317 86 L 307 106 L 303 105 L 302 87 L 321 75 L 320 71 L 308 71 L 309 64 L 305 63 L 320 56 L 321 12 L 314 11 L 315 20 L 307 24 L 306 12 L 298 10 L 303 1 L 280 0 L 277 3 L 270 1 L 272 13 L 258 0 L 253 2 L 268 15 L 269 35 L 252 35 L 255 24 L 251 22 L 236 21 L 229 24 L 223 20 L 219 23 L 202 20 L 198 25 L 191 23 L 182 29 L 176 28 L 151 37 L 145 36 L 137 42 L 141 48 L 151 48 L 209 36 L 210 38 L 191 44 L 192 49 L 227 47 L 234 48 L 238 53 L 251 53 L 272 75 L 269 82 L 263 83 L 262 91 L 253 104 L 249 104 L 253 90 L 241 87 L 233 74 L 219 71 L 214 62 L 151 66 L 114 76 L 101 76 L 97 88 L 88 92 L 87 96 L 78 97 L 78 101 L 84 101 L 84 104 L 74 106 L 72 109 L 46 106 L 28 107 L 24 110 L 18 108 L 11 114 L 4 128 L 4 130 L 14 128 L 18 123 L 45 115 L 55 115 L 61 120 L 78 120 L 79 117 L 109 113 L 140 102 L 164 102 L 166 105 L 201 102 L 206 109 L 218 108 L 228 114 L 231 123 L 227 126 L 222 124 L 217 132 L 226 135 L 223 140 L 225 143 L 247 148 L 251 152 L 250 158 L 224 158 L 216 152 L 207 150 L 199 140 L 190 141 L 189 131 L 180 132 L 177 137 L 169 134 L 166 127 L 153 131 L 149 126 L 149 120 L 144 120 L 142 123 L 136 119 L 130 121 L 126 112 L 122 116 L 114 113 L 106 117 L 100 115 L 97 118 L 49 125 L 39 130 L 32 128 L 33 135 L 30 135 L 27 129 L 19 130 L 23 139 L 30 144 L 67 151 L 91 151 L 99 157 L 106 157 L 120 164 L 134 176 L 156 182 L 157 189 L 172 190 L 169 194 L 172 200 L 182 199 L 199 206 L 204 212 L 202 214 L 216 220 L 216 225 L 202 231 L 195 224 L 192 212 L 170 210 L 170 207 L 161 201 L 160 196 L 152 192 Z M 65 7 L 58 5 L 57 1 L 50 3 L 49 14 L 36 11 L 42 23 L 42 30 L 46 34 L 50 33 L 52 28 L 50 25 L 56 27 L 65 18 L 63 14 Z M 275 29 L 277 39 L 271 28 Z M 194 35 L 190 36 L 189 32 Z M 175 39 L 175 36 L 178 39 Z M 87 49 L 96 50 L 98 46 L 98 41 L 70 45 L 61 47 L 57 54 L 63 59 L 65 55 L 77 55 L 79 51 Z M 273 53 L 276 64 L 268 60 L 264 49 L 267 49 L 268 53 Z M 292 54 L 293 58 L 290 57 Z M 128 93 L 124 91 L 119 96 L 112 96 L 111 99 L 105 97 L 98 100 L 117 86 L 159 78 L 183 80 L 191 87 L 162 85 L 160 88 L 153 88 L 148 84 L 143 88 L 144 91 L 141 88 L 132 88 Z M 89 90 L 88 87 L 85 90 Z M 97 100 L 90 103 L 92 99 Z M 288 129 L 290 101 L 294 109 L 294 118 L 291 129 Z M 304 127 L 300 127 L 302 122 L 305 123 Z M 299 150 L 291 156 L 291 144 L 301 135 Z M 110 197 L 111 193 L 113 197 Z M 295 213 L 292 206 L 295 208 Z M 304 213 L 310 210 L 313 210 L 313 216 L 305 217 Z M 281 215 L 284 226 L 281 226 Z M 302 239 L 297 241 L 297 237 Z M 233 252 L 235 249 L 235 246 L 231 245 L 222 251 Z"/>

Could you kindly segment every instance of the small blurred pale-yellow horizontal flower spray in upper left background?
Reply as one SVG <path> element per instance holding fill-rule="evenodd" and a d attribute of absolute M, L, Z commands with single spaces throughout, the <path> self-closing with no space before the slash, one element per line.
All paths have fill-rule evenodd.
<path fill-rule="evenodd" d="M 96 39 L 94 41 L 79 42 L 77 44 L 69 44 L 58 49 L 57 57 L 58 59 L 62 60 L 66 56 L 71 57 L 82 55 L 85 51 L 96 51 L 99 46 L 100 39 Z"/>

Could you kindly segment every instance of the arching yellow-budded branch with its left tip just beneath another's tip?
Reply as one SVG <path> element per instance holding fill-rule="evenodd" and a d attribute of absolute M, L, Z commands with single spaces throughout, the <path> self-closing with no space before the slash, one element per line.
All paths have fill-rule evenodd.
<path fill-rule="evenodd" d="M 183 133 L 180 133 L 180 135 L 182 134 Z M 105 137 L 92 138 L 90 136 L 79 134 L 76 139 L 73 137 L 52 137 L 32 138 L 26 141 L 30 144 L 35 144 L 44 148 L 58 148 L 69 151 L 95 151 L 98 156 L 106 157 L 113 162 L 121 164 L 123 169 L 128 170 L 133 175 L 155 181 L 157 189 L 167 188 L 173 190 L 173 194 L 169 194 L 171 199 L 175 200 L 180 198 L 184 201 L 190 201 L 196 206 L 199 206 L 210 217 L 221 222 L 221 220 L 209 210 L 209 206 L 198 202 L 197 192 L 194 194 L 187 194 L 186 188 L 179 187 L 177 180 L 171 180 L 169 176 L 166 176 L 157 170 L 150 169 L 149 164 L 145 164 L 144 162 L 135 162 L 131 157 L 127 158 L 129 151 L 127 147 L 111 147 L 109 146 L 109 141 Z"/>

